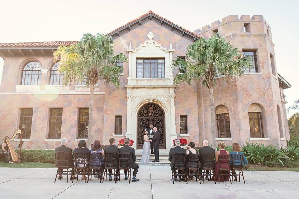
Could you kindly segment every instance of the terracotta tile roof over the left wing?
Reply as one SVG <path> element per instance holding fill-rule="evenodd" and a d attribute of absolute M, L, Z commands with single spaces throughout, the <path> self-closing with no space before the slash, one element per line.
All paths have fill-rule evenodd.
<path fill-rule="evenodd" d="M 43 42 L 20 42 L 20 43 L 0 43 L 0 47 L 58 47 L 59 45 L 71 45 L 77 41 L 43 41 Z"/>

